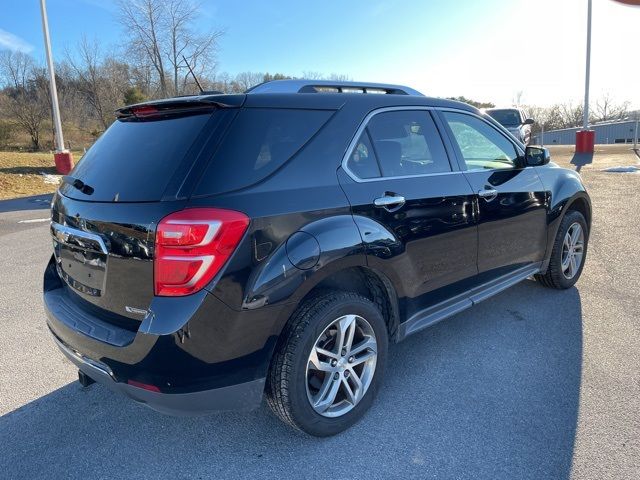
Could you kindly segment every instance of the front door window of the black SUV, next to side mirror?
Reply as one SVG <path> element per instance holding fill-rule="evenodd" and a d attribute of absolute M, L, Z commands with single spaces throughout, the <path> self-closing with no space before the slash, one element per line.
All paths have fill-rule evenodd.
<path fill-rule="evenodd" d="M 472 115 L 442 112 L 468 170 L 514 168 L 515 146 L 487 122 Z"/>

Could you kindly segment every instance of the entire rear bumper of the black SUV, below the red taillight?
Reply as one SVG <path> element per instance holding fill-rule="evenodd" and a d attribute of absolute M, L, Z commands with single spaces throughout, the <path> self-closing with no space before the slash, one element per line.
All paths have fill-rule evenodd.
<path fill-rule="evenodd" d="M 279 332 L 278 308 L 236 311 L 206 291 L 156 297 L 152 319 L 125 328 L 78 303 L 52 264 L 44 284 L 55 342 L 96 382 L 173 415 L 260 405 Z M 151 390 L 135 386 L 140 384 Z"/>

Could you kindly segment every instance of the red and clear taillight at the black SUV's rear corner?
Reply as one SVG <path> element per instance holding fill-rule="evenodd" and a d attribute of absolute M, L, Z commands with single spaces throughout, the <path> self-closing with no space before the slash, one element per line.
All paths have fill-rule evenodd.
<path fill-rule="evenodd" d="M 190 208 L 164 217 L 156 230 L 155 294 L 201 290 L 229 259 L 248 225 L 244 213 L 219 208 Z"/>

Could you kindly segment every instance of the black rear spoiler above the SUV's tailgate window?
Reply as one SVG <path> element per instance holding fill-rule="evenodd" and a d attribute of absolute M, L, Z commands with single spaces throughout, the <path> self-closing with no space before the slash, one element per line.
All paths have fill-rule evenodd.
<path fill-rule="evenodd" d="M 165 115 L 195 113 L 198 110 L 238 108 L 244 104 L 246 95 L 194 95 L 136 103 L 115 111 L 117 118 L 149 118 Z"/>

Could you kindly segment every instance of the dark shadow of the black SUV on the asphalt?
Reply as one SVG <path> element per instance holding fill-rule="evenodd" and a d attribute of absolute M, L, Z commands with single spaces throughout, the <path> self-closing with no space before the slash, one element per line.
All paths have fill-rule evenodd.
<path fill-rule="evenodd" d="M 11 478 L 569 478 L 579 291 L 527 281 L 393 346 L 365 418 L 312 438 L 263 404 L 176 418 L 66 385 L 0 417 Z"/>

